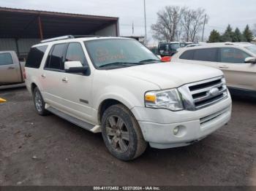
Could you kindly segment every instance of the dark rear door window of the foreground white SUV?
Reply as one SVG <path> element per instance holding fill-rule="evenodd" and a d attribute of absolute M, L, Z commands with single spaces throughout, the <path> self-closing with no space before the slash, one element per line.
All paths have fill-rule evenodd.
<path fill-rule="evenodd" d="M 56 44 L 52 47 L 45 68 L 62 69 L 62 58 L 66 45 L 67 44 Z"/>

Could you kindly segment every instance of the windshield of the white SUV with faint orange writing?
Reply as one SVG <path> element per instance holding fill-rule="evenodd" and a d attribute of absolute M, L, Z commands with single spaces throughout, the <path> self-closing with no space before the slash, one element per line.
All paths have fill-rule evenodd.
<path fill-rule="evenodd" d="M 97 39 L 84 43 L 96 68 L 161 62 L 148 48 L 133 39 Z"/>

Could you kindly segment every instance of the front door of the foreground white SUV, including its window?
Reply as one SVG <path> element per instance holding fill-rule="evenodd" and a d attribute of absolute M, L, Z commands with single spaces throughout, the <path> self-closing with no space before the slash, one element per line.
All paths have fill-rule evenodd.
<path fill-rule="evenodd" d="M 68 44 L 64 61 L 80 61 L 83 66 L 89 66 L 80 42 Z M 69 112 L 88 122 L 91 121 L 92 112 L 91 85 L 92 75 L 89 69 L 86 74 L 63 73 L 59 86 Z"/>

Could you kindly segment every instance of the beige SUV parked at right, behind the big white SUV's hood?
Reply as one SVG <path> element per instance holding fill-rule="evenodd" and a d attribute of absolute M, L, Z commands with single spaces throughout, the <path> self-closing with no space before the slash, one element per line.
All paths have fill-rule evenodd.
<path fill-rule="evenodd" d="M 200 64 L 221 69 L 227 86 L 244 93 L 256 93 L 256 45 L 246 42 L 209 43 L 181 48 L 173 62 Z"/>

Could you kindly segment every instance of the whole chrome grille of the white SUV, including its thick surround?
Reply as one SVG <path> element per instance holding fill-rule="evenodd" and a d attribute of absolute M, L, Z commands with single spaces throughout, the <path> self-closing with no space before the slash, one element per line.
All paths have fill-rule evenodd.
<path fill-rule="evenodd" d="M 224 77 L 216 77 L 180 87 L 178 90 L 183 97 L 185 108 L 203 109 L 227 98 L 227 86 L 223 79 Z"/>

